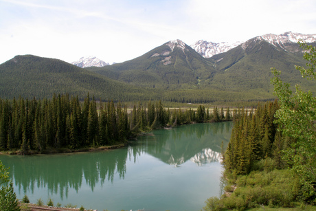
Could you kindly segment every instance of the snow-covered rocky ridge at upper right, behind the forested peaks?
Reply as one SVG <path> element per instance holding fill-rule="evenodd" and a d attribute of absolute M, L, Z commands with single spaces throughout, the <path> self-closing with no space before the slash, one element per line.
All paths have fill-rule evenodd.
<path fill-rule="evenodd" d="M 212 43 L 208 41 L 197 41 L 196 43 L 190 45 L 193 49 L 196 50 L 201 56 L 204 58 L 211 58 L 214 55 L 222 54 L 228 52 L 230 49 L 237 47 L 238 45 L 242 45 L 245 48 L 245 45 L 252 40 L 264 40 L 274 45 L 275 47 L 281 47 L 285 51 L 295 52 L 291 49 L 292 44 L 296 44 L 298 41 L 302 40 L 306 43 L 315 43 L 316 42 L 316 34 L 301 34 L 301 33 L 293 33 L 293 32 L 285 32 L 283 34 L 264 34 L 262 36 L 256 36 L 254 38 L 249 39 L 246 42 L 236 42 L 236 43 Z"/>

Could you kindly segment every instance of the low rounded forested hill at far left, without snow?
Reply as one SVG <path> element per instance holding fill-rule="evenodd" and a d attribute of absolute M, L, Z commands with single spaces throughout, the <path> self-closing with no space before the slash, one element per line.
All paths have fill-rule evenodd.
<path fill-rule="evenodd" d="M 157 93 L 111 80 L 62 60 L 25 55 L 0 65 L 0 98 L 52 98 L 53 93 L 69 93 L 84 98 L 143 100 Z M 147 100 L 147 98 L 146 98 Z"/>

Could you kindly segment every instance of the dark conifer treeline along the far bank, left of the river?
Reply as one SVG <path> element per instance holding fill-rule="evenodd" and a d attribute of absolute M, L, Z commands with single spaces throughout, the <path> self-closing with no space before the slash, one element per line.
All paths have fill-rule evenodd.
<path fill-rule="evenodd" d="M 113 101 L 97 103 L 69 95 L 54 95 L 52 99 L 0 99 L 0 148 L 3 151 L 46 148 L 82 148 L 106 146 L 124 142 L 141 131 L 191 122 L 231 120 L 227 108 L 213 111 L 199 106 L 192 109 L 165 109 L 161 102 L 134 105 Z"/>

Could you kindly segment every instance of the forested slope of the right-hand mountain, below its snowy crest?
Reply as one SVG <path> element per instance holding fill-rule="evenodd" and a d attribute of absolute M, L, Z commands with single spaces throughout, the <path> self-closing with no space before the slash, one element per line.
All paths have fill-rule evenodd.
<path fill-rule="evenodd" d="M 286 47 L 291 48 L 292 52 L 263 39 L 253 38 L 228 52 L 212 56 L 209 60 L 214 63 L 218 74 L 208 84 L 210 87 L 220 87 L 223 90 L 252 89 L 258 93 L 271 93 L 271 67 L 282 71 L 284 82 L 290 82 L 292 85 L 300 84 L 302 77 L 295 69 L 295 65 L 305 65 L 302 49 L 293 43 Z M 315 90 L 315 83 L 305 82 L 303 87 L 306 89 L 314 87 Z"/>

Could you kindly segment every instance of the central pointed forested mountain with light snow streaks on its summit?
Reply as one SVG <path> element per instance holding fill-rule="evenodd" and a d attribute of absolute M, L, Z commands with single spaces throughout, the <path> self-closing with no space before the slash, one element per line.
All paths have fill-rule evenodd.
<path fill-rule="evenodd" d="M 87 68 L 115 80 L 141 87 L 196 88 L 201 78 L 212 77 L 212 63 L 182 41 L 170 41 L 133 60 Z"/>

